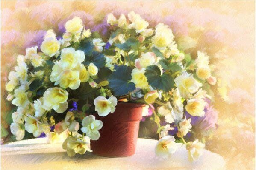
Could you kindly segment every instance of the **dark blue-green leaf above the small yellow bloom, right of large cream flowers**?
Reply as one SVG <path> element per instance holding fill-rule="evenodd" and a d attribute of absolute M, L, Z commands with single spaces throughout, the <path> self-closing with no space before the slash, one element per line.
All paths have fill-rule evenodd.
<path fill-rule="evenodd" d="M 85 57 L 83 64 L 89 65 L 91 62 L 96 65 L 97 68 L 103 68 L 106 65 L 106 58 L 104 54 L 93 51 L 90 56 Z"/>

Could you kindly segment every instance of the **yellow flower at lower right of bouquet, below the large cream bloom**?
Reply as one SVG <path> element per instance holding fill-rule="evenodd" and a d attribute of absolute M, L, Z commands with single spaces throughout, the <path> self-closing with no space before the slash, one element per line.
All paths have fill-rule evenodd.
<path fill-rule="evenodd" d="M 206 103 L 203 99 L 190 99 L 186 105 L 186 110 L 192 116 L 204 116 L 204 107 Z"/>

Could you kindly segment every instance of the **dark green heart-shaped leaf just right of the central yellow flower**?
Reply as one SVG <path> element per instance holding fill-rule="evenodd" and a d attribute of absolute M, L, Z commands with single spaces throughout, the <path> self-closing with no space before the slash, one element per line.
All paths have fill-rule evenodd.
<path fill-rule="evenodd" d="M 147 66 L 145 74 L 147 82 L 153 88 L 163 90 L 165 92 L 174 88 L 174 79 L 169 74 L 162 74 L 157 65 Z"/>

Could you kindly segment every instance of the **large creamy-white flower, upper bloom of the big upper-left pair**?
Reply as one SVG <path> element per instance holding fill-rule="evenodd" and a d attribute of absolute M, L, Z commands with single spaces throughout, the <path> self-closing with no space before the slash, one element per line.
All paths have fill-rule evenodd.
<path fill-rule="evenodd" d="M 60 66 L 62 69 L 72 69 L 85 60 L 85 53 L 74 48 L 63 48 L 61 51 Z"/>

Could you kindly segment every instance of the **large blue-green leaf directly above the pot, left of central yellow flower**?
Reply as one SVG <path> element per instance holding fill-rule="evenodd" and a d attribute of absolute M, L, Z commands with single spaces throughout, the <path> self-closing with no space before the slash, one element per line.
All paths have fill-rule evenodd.
<path fill-rule="evenodd" d="M 132 68 L 121 65 L 116 66 L 115 71 L 109 76 L 109 87 L 116 96 L 123 96 L 135 90 L 135 84 L 131 82 Z"/>

